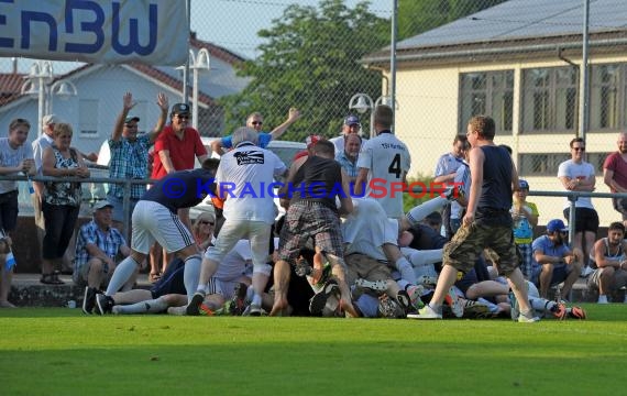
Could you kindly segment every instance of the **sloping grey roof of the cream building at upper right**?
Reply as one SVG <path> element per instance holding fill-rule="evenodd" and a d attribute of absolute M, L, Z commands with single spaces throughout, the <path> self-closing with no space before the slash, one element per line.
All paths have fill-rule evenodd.
<path fill-rule="evenodd" d="M 521 52 L 527 48 L 526 56 L 529 52 L 554 53 L 561 44 L 566 50 L 579 46 L 581 52 L 583 3 L 583 0 L 506 1 L 398 42 L 397 61 L 459 61 L 460 56 L 469 59 L 477 50 L 494 57 L 512 54 L 513 45 Z M 590 0 L 588 33 L 591 47 L 607 40 L 612 41 L 608 45 L 624 45 L 627 42 L 625 0 Z M 481 59 L 481 52 L 477 53 Z M 367 55 L 363 62 L 389 67 L 389 47 Z"/>

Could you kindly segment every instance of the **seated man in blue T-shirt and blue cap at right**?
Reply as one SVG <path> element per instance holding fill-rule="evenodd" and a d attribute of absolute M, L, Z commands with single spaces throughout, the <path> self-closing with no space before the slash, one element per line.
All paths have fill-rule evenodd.
<path fill-rule="evenodd" d="M 560 219 L 547 224 L 547 234 L 537 238 L 531 244 L 534 251 L 532 282 L 540 290 L 540 297 L 548 298 L 549 288 L 564 283 L 562 296 L 569 296 L 579 278 L 583 253 L 580 249 L 571 250 L 568 245 L 569 229 Z"/>

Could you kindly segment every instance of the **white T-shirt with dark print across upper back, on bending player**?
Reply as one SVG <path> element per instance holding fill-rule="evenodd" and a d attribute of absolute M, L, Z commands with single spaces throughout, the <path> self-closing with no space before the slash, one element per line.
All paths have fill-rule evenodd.
<path fill-rule="evenodd" d="M 222 155 L 216 174 L 218 194 L 227 191 L 224 218 L 274 222 L 275 176 L 286 170 L 283 161 L 270 150 L 240 145 Z"/>

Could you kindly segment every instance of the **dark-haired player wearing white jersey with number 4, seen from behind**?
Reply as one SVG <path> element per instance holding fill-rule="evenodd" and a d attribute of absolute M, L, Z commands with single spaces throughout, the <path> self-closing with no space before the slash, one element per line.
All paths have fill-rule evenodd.
<path fill-rule="evenodd" d="M 355 193 L 376 198 L 387 217 L 399 219 L 403 212 L 403 189 L 411 165 L 405 143 L 391 131 L 394 113 L 389 106 L 381 105 L 374 110 L 374 128 L 377 136 L 364 142 L 358 167 Z"/>

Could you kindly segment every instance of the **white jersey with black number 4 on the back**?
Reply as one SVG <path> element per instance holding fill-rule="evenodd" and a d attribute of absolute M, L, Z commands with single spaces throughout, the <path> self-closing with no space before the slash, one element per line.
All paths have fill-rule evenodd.
<path fill-rule="evenodd" d="M 404 215 L 400 186 L 410 165 L 407 146 L 389 132 L 380 133 L 362 145 L 358 167 L 370 169 L 366 196 L 377 199 L 389 218 Z"/>

